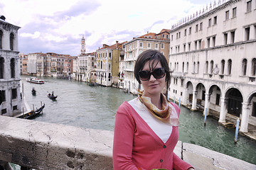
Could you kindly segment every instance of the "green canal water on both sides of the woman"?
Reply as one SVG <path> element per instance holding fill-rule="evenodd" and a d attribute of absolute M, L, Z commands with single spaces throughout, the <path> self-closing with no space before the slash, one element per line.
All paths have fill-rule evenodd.
<path fill-rule="evenodd" d="M 45 84 L 30 84 L 26 78 L 21 76 L 21 86 L 28 105 L 39 108 L 41 102 L 46 104 L 43 115 L 33 119 L 35 121 L 113 131 L 119 105 L 136 97 L 121 89 L 87 86 L 74 80 L 41 77 Z M 31 94 L 32 87 L 37 91 L 36 96 Z M 58 95 L 56 101 L 46 96 L 51 91 Z M 179 140 L 256 164 L 256 142 L 239 135 L 234 144 L 234 137 L 234 129 L 223 128 L 213 118 L 207 118 L 204 126 L 202 113 L 181 106 Z"/>

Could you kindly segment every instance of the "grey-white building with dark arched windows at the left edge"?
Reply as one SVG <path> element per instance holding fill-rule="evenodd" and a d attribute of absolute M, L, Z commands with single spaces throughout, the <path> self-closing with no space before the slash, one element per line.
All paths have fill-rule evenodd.
<path fill-rule="evenodd" d="M 0 16 L 0 110 L 1 115 L 21 113 L 18 67 L 18 29 Z"/>

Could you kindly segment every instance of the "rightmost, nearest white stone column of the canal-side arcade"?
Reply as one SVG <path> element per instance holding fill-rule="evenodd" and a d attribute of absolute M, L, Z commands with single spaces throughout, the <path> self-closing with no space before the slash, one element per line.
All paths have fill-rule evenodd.
<path fill-rule="evenodd" d="M 248 132 L 249 123 L 249 107 L 250 104 L 242 103 L 242 118 L 240 124 L 240 132 Z"/>

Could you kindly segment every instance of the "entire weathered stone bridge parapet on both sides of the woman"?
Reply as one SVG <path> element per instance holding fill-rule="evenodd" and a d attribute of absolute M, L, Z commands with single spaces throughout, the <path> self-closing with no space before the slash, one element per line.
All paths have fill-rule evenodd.
<path fill-rule="evenodd" d="M 0 116 L 0 163 L 33 169 L 112 168 L 113 132 Z M 182 143 L 174 152 L 197 170 L 256 169 L 255 164 Z"/>

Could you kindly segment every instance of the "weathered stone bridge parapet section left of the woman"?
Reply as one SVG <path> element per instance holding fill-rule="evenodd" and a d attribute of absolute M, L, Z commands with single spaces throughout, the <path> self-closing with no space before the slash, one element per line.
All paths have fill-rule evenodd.
<path fill-rule="evenodd" d="M 113 132 L 0 116 L 0 160 L 33 169 L 112 169 Z"/>

